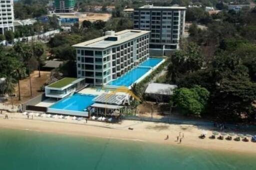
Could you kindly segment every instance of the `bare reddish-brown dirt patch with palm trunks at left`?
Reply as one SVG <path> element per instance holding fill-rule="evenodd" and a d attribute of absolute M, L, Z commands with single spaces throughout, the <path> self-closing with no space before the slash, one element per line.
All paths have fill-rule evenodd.
<path fill-rule="evenodd" d="M 31 76 L 31 86 L 32 86 L 32 96 L 30 96 L 30 86 L 29 86 L 29 78 L 25 78 L 19 81 L 20 84 L 20 97 L 21 100 L 18 101 L 18 97 L 13 98 L 13 104 L 19 105 L 21 103 L 26 102 L 29 99 L 32 99 L 35 96 L 38 96 L 42 92 L 39 92 L 40 87 L 47 81 L 50 76 L 49 71 L 41 71 L 41 77 L 38 77 L 38 71 L 34 71 L 30 74 Z M 18 96 L 18 85 L 16 85 L 15 93 Z M 10 104 L 10 100 L 8 101 Z"/>

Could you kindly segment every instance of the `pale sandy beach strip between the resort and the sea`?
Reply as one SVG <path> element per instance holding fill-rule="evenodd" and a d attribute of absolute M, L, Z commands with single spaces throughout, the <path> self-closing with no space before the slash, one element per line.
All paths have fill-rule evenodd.
<path fill-rule="evenodd" d="M 9 114 L 9 119 L 0 115 L 0 128 L 18 129 L 36 132 L 56 133 L 65 135 L 91 136 L 119 140 L 141 141 L 159 143 L 165 145 L 178 145 L 207 150 L 220 150 L 228 152 L 241 152 L 256 154 L 256 143 L 236 142 L 227 140 L 209 139 L 211 131 L 203 127 L 192 125 L 173 125 L 165 123 L 140 122 L 125 120 L 121 124 L 109 124 L 104 122 L 63 120 L 53 118 L 35 117 L 26 119 L 21 114 Z M 133 128 L 133 130 L 128 130 Z M 205 139 L 199 139 L 202 131 L 206 131 Z M 179 132 L 184 138 L 176 141 Z M 166 135 L 169 139 L 164 140 Z"/>

